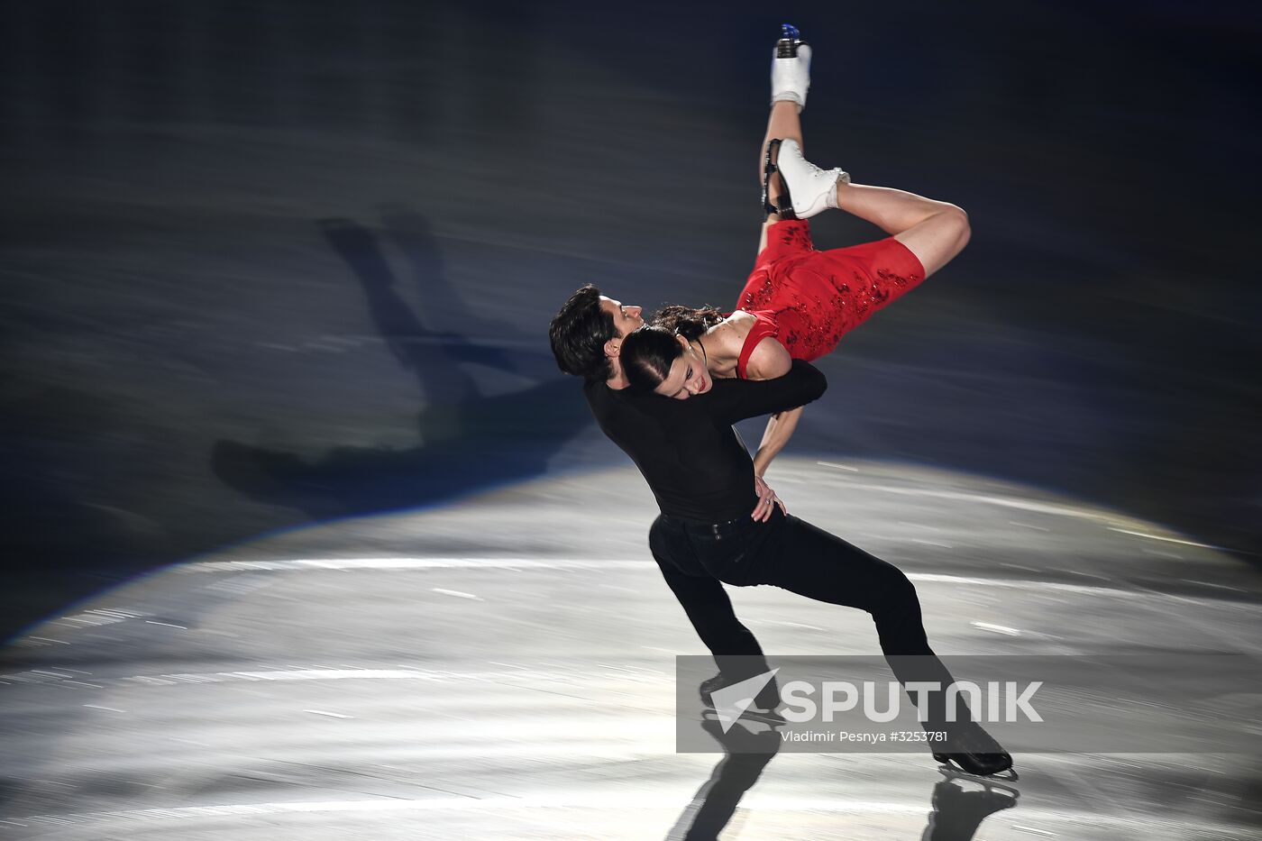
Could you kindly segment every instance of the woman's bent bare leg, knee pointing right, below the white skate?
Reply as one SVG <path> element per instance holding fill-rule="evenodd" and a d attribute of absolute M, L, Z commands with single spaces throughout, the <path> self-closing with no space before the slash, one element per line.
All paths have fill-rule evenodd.
<path fill-rule="evenodd" d="M 968 215 L 948 202 L 890 187 L 837 184 L 837 207 L 892 234 L 925 266 L 926 278 L 968 245 Z"/>

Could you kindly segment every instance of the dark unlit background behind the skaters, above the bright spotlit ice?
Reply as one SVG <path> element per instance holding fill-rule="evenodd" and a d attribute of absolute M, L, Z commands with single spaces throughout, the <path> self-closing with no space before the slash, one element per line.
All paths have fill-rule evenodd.
<path fill-rule="evenodd" d="M 626 463 L 546 322 L 587 280 L 734 299 L 782 20 L 815 45 L 808 154 L 973 225 L 820 362 L 790 452 L 1262 551 L 1247 4 L 0 14 L 0 636 L 266 530 Z"/>

